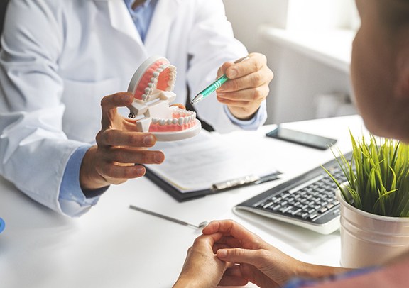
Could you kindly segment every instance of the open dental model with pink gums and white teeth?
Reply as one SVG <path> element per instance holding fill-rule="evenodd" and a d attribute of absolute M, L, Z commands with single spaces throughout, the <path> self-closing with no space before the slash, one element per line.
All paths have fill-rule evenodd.
<path fill-rule="evenodd" d="M 136 119 L 139 132 L 149 132 L 158 141 L 173 141 L 197 135 L 202 128 L 196 113 L 177 106 L 169 106 L 175 100 L 173 93 L 176 67 L 168 59 L 153 56 L 138 67 L 129 82 L 133 103 L 128 106 L 129 117 Z"/>

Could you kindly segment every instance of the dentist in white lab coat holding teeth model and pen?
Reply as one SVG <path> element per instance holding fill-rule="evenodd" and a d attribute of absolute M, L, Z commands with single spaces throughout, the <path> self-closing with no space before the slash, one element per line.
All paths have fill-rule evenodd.
<path fill-rule="evenodd" d="M 160 164 L 156 139 L 136 133 L 124 107 L 136 68 L 151 55 L 178 67 L 184 104 L 226 73 L 224 91 L 195 106 L 215 130 L 266 121 L 273 73 L 234 39 L 222 0 L 11 0 L 0 54 L 0 173 L 31 198 L 69 216 L 109 184 Z M 124 109 L 124 113 L 121 113 Z M 132 163 L 132 165 L 129 165 Z"/>

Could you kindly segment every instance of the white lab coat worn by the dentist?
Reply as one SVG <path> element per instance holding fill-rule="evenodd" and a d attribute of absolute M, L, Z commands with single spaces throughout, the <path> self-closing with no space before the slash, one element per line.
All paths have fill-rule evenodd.
<path fill-rule="evenodd" d="M 100 100 L 126 91 L 143 60 L 178 68 L 185 104 L 187 84 L 197 94 L 247 54 L 222 0 L 160 0 L 144 44 L 123 0 L 11 0 L 1 44 L 0 172 L 56 211 L 67 160 L 100 129 Z M 217 131 L 236 128 L 215 97 L 195 108 Z"/>

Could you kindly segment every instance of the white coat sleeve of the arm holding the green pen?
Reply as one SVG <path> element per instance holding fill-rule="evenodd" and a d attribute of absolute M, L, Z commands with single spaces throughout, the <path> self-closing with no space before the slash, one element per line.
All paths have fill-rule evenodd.
<path fill-rule="evenodd" d="M 197 1 L 195 24 L 190 31 L 188 53 L 192 57 L 187 71 L 187 82 L 190 86 L 191 96 L 204 89 L 217 77 L 218 68 L 227 61 L 235 61 L 248 55 L 243 44 L 234 38 L 231 23 L 227 21 L 222 0 Z M 224 105 L 220 104 L 214 94 L 209 95 L 204 101 L 195 104 L 197 115 L 204 121 L 211 123 L 216 131 L 226 133 L 240 128 L 233 123 Z M 262 121 L 266 121 L 266 105 L 261 106 Z"/>

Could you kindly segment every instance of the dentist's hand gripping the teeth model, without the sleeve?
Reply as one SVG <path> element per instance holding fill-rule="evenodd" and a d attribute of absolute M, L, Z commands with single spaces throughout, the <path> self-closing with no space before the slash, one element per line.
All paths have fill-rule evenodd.
<path fill-rule="evenodd" d="M 96 137 L 97 145 L 89 148 L 82 160 L 82 189 L 98 189 L 141 177 L 146 172 L 143 164 L 160 164 L 165 160 L 161 151 L 148 150 L 155 145 L 155 136 L 137 132 L 134 120 L 117 113 L 117 107 L 129 106 L 132 101 L 129 92 L 102 99 L 102 128 Z"/>

